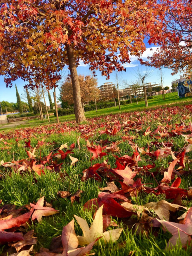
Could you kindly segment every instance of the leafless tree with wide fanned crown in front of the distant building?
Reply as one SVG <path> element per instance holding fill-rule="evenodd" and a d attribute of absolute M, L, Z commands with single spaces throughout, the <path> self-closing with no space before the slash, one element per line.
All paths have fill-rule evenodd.
<path fill-rule="evenodd" d="M 150 70 L 149 67 L 146 67 L 146 69 L 144 71 L 140 70 L 138 67 L 137 67 L 137 71 L 135 71 L 135 75 L 134 77 L 137 77 L 140 81 L 141 81 L 141 84 L 142 84 L 142 87 L 143 87 L 143 93 L 144 93 L 144 99 L 145 99 L 145 106 L 148 107 L 148 102 L 147 102 L 147 93 L 146 93 L 146 88 L 145 88 L 145 82 L 146 82 L 146 79 L 148 77 L 151 77 L 152 76 L 152 72 L 153 70 Z"/>

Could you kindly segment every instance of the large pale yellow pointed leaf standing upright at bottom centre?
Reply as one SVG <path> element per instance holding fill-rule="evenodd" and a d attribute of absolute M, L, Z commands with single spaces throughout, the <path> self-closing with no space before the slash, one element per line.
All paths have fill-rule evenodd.
<path fill-rule="evenodd" d="M 86 220 L 74 215 L 74 217 L 77 220 L 77 223 L 80 225 L 81 229 L 83 230 L 83 237 L 77 236 L 80 245 L 83 246 L 83 245 L 92 243 L 98 237 L 102 237 L 105 243 L 109 242 L 110 239 L 112 242 L 115 242 L 120 237 L 123 229 L 109 230 L 104 233 L 102 232 L 103 230 L 102 209 L 103 209 L 103 205 L 96 212 L 95 219 L 91 224 L 90 228 Z"/>

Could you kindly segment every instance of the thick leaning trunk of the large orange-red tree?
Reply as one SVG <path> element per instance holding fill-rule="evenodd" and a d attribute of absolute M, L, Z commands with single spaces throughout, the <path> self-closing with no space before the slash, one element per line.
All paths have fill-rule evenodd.
<path fill-rule="evenodd" d="M 83 112 L 83 107 L 81 103 L 81 91 L 79 86 L 79 79 L 77 75 L 77 68 L 76 68 L 76 58 L 74 56 L 74 51 L 71 45 L 67 45 L 67 57 L 69 62 L 69 69 L 70 69 L 70 76 L 72 80 L 72 87 L 73 87 L 73 101 L 75 106 L 75 118 L 76 122 L 85 121 L 85 114 Z"/>

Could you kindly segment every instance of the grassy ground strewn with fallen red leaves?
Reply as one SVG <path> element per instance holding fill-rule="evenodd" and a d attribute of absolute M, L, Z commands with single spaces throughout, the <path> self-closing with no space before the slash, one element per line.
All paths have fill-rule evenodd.
<path fill-rule="evenodd" d="M 170 94 L 166 95 L 166 102 L 154 98 L 149 101 L 149 106 L 170 102 L 168 97 L 172 97 L 172 102 L 183 101 L 176 98 L 175 94 Z M 137 111 L 134 112 L 134 108 Z M 165 249 L 172 234 L 156 220 L 160 218 L 157 211 L 151 208 L 146 210 L 142 206 L 151 202 L 162 203 L 162 200 L 184 206 L 186 208 L 169 208 L 169 219 L 163 211 L 166 205 L 161 209 L 161 219 L 166 218 L 167 221 L 183 225 L 184 217 L 178 218 L 192 210 L 189 210 L 192 207 L 192 105 L 180 104 L 165 107 L 163 111 L 160 108 L 146 111 L 141 102 L 138 105 L 122 106 L 122 111 L 127 110 L 133 111 L 117 113 L 115 108 L 102 109 L 97 113 L 86 113 L 87 117 L 92 118 L 80 125 L 68 121 L 0 134 L 0 224 L 4 218 L 9 219 L 10 214 L 14 213 L 13 217 L 17 218 L 28 212 L 29 204 L 36 204 L 42 197 L 48 202 L 47 208 L 52 206 L 59 211 L 52 216 L 42 217 L 40 222 L 37 219 L 29 220 L 24 227 L 6 229 L 8 232 L 23 234 L 34 230 L 37 244 L 34 244 L 33 255 L 39 250 L 39 256 L 59 255 L 63 250 L 59 243 L 63 227 L 70 223 L 74 215 L 85 219 L 90 225 L 94 211 L 102 204 L 103 216 L 106 218 L 107 214 L 108 220 L 111 218 L 108 224 L 112 224 L 106 229 L 119 227 L 123 231 L 114 243 L 110 241 L 104 244 L 100 239 L 91 253 L 99 256 L 190 255 L 190 234 L 184 234 L 188 236 L 189 243 L 182 245 L 178 240 L 175 246 Z M 114 115 L 96 117 L 104 113 Z M 73 116 L 61 117 L 60 121 L 70 118 Z M 59 151 L 61 145 L 63 148 Z M 102 153 L 100 146 L 103 147 Z M 71 165 L 70 156 L 78 159 L 74 165 Z M 175 167 L 169 170 L 169 180 L 166 172 L 174 159 L 178 160 Z M 7 162 L 12 162 L 12 165 L 5 164 Z M 132 178 L 130 172 L 134 173 Z M 106 182 L 114 182 L 118 190 L 110 192 L 107 189 L 103 193 L 100 188 L 106 187 Z M 172 184 L 173 187 L 170 187 Z M 77 194 L 61 198 L 58 191 Z M 88 209 L 88 204 L 84 204 L 91 199 L 97 203 L 91 207 L 90 201 Z M 125 210 L 122 206 L 125 202 L 132 204 L 132 210 Z M 152 224 L 153 221 L 159 223 L 159 226 Z M 75 232 L 82 236 L 76 220 Z M 177 236 L 177 229 L 174 236 Z M 14 243 L 0 245 L 0 255 L 16 253 Z M 29 249 L 31 244 L 28 243 L 25 248 Z"/>

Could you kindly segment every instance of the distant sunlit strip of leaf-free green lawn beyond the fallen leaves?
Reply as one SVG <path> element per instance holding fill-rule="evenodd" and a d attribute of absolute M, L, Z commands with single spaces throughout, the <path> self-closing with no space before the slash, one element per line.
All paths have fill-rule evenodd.
<path fill-rule="evenodd" d="M 170 105 L 170 104 L 180 104 L 180 103 L 183 104 L 184 102 L 185 103 L 192 102 L 191 97 L 179 98 L 177 92 L 166 94 L 165 97 L 166 97 L 166 100 L 163 101 L 162 95 L 154 96 L 154 99 L 148 100 L 148 106 L 149 106 L 148 108 L 153 108 L 155 106 Z M 117 106 L 116 108 L 112 107 L 108 109 L 98 109 L 97 112 L 96 111 L 85 112 L 85 116 L 87 118 L 92 118 L 96 116 L 115 114 L 119 112 L 141 111 L 144 109 L 146 109 L 146 107 L 145 107 L 145 102 L 143 101 L 143 102 L 138 102 L 138 104 L 136 104 L 135 102 L 132 104 L 122 105 L 121 110 L 119 110 Z M 66 116 L 59 117 L 60 122 L 70 121 L 74 119 L 75 119 L 75 115 L 66 115 Z M 50 123 L 54 123 L 56 121 L 57 120 L 55 116 L 50 116 Z M 44 121 L 33 119 L 31 121 L 27 121 L 27 123 L 25 122 L 25 124 L 19 123 L 19 125 L 15 123 L 14 128 L 32 127 L 32 126 L 41 125 L 41 124 L 48 124 L 47 119 L 45 119 Z M 9 130 L 12 130 L 12 128 L 6 128 L 5 125 L 0 125 L 0 131 L 9 131 Z"/>

